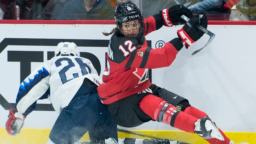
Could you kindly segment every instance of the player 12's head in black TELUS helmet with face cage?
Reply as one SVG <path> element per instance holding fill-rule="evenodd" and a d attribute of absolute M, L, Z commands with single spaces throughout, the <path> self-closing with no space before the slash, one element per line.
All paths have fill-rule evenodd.
<path fill-rule="evenodd" d="M 140 10 L 132 2 L 117 5 L 115 21 L 118 32 L 125 37 L 137 38 L 144 36 L 144 21 Z"/>

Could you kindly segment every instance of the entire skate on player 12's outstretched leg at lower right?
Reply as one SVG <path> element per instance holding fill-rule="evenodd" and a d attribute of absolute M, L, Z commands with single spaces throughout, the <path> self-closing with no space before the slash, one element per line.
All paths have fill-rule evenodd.
<path fill-rule="evenodd" d="M 201 120 L 195 122 L 195 133 L 204 139 L 216 138 L 224 141 L 224 137 L 215 126 L 215 124 L 208 117 L 202 117 Z"/>

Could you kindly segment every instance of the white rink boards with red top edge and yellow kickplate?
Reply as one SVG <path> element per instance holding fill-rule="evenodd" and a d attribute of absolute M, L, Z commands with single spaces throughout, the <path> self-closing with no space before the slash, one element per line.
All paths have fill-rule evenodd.
<path fill-rule="evenodd" d="M 19 23 L 19 24 L 17 24 Z M 205 111 L 235 142 L 256 143 L 256 48 L 255 22 L 209 22 L 215 33 L 207 43 L 204 35 L 189 49 L 181 49 L 169 67 L 150 71 L 152 83 L 187 98 Z M 53 56 L 61 41 L 75 42 L 83 57 L 90 59 L 102 76 L 113 21 L 0 21 L 0 144 L 45 143 L 57 118 L 48 100 L 38 101 L 16 137 L 7 135 L 8 109 L 14 105 L 20 82 L 43 61 Z M 149 46 L 158 48 L 177 37 L 182 26 L 162 27 L 146 36 Z M 148 122 L 130 130 L 190 143 L 204 143 L 195 135 L 165 124 Z M 87 134 L 86 134 L 87 135 Z M 135 137 L 119 133 L 119 137 Z M 137 136 L 136 136 L 137 137 Z M 88 135 L 82 141 L 88 141 Z"/>

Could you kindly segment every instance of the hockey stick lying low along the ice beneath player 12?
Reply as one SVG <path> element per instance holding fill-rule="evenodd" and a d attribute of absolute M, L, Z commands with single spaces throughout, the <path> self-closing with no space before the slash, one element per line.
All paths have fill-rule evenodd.
<path fill-rule="evenodd" d="M 137 135 L 137 136 L 141 136 L 141 137 L 151 138 L 151 139 L 165 139 L 165 138 L 161 138 L 161 137 L 157 137 L 157 136 L 152 136 L 152 135 L 148 135 L 148 134 L 144 134 L 144 133 L 137 133 L 137 132 L 119 129 L 119 128 L 117 128 L 117 131 L 123 132 L 123 133 L 128 133 L 128 134 L 133 134 L 133 135 Z M 170 144 L 189 144 L 189 143 L 180 142 L 180 141 L 176 141 L 176 140 L 171 140 L 171 139 L 169 139 L 169 140 L 170 140 Z M 171 143 L 171 142 L 173 142 L 173 143 Z"/>

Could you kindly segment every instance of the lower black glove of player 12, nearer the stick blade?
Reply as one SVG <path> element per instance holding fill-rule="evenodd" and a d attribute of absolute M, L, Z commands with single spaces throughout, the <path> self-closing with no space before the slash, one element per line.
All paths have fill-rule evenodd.
<path fill-rule="evenodd" d="M 200 15 L 199 17 L 191 18 L 189 23 L 186 23 L 183 28 L 177 32 L 179 39 L 185 42 L 186 48 L 204 35 L 204 32 L 199 30 L 196 25 L 199 24 L 202 27 L 207 28 L 208 21 L 206 15 Z"/>

